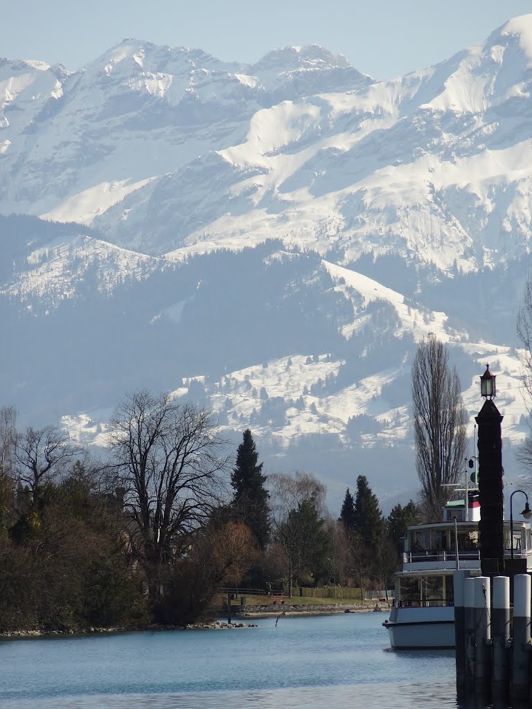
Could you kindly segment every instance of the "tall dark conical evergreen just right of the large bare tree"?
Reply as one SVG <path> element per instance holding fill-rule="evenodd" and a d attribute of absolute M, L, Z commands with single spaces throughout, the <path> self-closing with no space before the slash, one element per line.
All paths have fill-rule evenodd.
<path fill-rule="evenodd" d="M 233 510 L 255 535 L 257 545 L 265 549 L 270 539 L 270 508 L 265 489 L 266 476 L 262 475 L 262 463 L 257 464 L 258 454 L 251 431 L 244 431 L 243 441 L 236 453 L 236 467 L 231 474 L 235 491 Z"/>

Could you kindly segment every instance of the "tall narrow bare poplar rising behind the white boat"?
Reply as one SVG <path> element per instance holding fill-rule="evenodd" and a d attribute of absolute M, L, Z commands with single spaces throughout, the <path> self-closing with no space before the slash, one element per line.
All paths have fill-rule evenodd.
<path fill-rule="evenodd" d="M 419 342 L 412 366 L 412 408 L 416 470 L 421 497 L 432 520 L 439 520 L 453 495 L 465 453 L 465 425 L 460 380 L 449 369 L 448 352 L 428 335 Z"/>

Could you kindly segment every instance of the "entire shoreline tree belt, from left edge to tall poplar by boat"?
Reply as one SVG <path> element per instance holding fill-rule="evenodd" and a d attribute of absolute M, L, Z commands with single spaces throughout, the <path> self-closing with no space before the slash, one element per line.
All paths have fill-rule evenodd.
<path fill-rule="evenodd" d="M 104 461 L 0 408 L 0 632 L 188 623 L 222 586 L 389 588 L 406 526 L 438 515 L 462 458 L 459 388 L 436 338 L 412 373 L 421 492 L 388 517 L 364 475 L 331 515 L 313 475 L 266 475 L 249 429 L 233 459 L 211 414 L 168 394 L 123 399 Z"/>

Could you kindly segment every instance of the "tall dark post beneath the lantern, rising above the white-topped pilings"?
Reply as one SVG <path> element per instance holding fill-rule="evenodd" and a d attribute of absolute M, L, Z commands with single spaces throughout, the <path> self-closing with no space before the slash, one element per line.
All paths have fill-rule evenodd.
<path fill-rule="evenodd" d="M 480 494 L 480 568 L 482 576 L 504 574 L 504 499 L 502 492 L 501 416 L 487 399 L 475 418 L 478 425 Z"/>

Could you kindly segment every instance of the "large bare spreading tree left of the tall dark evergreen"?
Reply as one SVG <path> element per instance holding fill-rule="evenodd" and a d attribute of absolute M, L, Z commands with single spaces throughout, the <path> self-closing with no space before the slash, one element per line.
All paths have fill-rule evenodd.
<path fill-rule="evenodd" d="M 165 568 L 226 490 L 226 442 L 208 412 L 145 390 L 126 396 L 109 428 L 114 484 L 125 491 L 131 544 L 155 600 L 163 594 Z"/>

